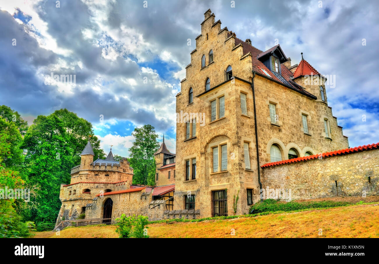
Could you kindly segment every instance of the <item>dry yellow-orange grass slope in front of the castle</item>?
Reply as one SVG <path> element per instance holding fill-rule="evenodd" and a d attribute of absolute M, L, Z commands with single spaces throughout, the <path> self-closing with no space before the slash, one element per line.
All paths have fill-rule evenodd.
<path fill-rule="evenodd" d="M 319 236 L 319 229 L 322 236 Z M 34 237 L 118 237 L 116 226 L 84 226 Z M 232 229 L 235 236 L 231 235 Z M 379 205 L 281 213 L 194 223 L 150 224 L 150 237 L 379 237 Z"/>

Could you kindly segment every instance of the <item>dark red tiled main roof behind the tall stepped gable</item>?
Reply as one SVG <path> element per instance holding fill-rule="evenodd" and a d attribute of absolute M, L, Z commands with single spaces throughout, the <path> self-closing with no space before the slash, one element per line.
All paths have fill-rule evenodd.
<path fill-rule="evenodd" d="M 228 33 L 228 37 L 230 37 L 230 36 L 231 36 L 231 34 Z M 293 77 L 293 73 L 290 70 L 288 70 L 288 68 L 283 63 L 280 64 L 281 65 L 280 69 L 281 69 L 282 77 L 283 77 L 284 80 L 278 78 L 275 74 L 273 74 L 272 71 L 270 71 L 263 64 L 263 62 L 261 62 L 260 60 L 258 60 L 258 56 L 262 57 L 262 55 L 267 54 L 268 52 L 270 52 L 272 50 L 275 50 L 278 45 L 272 47 L 268 51 L 263 52 L 263 51 L 257 49 L 256 47 L 251 46 L 250 44 L 246 43 L 245 41 L 240 40 L 239 38 L 235 38 L 234 44 L 235 44 L 235 46 L 237 46 L 239 44 L 242 44 L 243 55 L 246 55 L 247 53 L 250 52 L 253 71 L 255 71 L 257 73 L 260 73 L 260 74 L 262 74 L 262 75 L 264 75 L 266 77 L 266 74 L 263 73 L 263 71 L 261 70 L 261 69 L 263 69 L 268 74 L 270 74 L 271 78 L 274 79 L 274 81 L 280 82 L 283 85 L 286 85 L 287 87 L 291 88 L 292 90 L 295 90 L 295 91 L 297 91 L 299 93 L 302 93 L 302 94 L 304 94 L 304 95 L 306 95 L 306 96 L 308 96 L 310 98 L 317 99 L 315 95 L 312 95 L 312 93 L 309 93 L 309 92 L 305 91 L 300 85 L 298 85 L 295 82 L 291 81 L 291 79 Z"/>

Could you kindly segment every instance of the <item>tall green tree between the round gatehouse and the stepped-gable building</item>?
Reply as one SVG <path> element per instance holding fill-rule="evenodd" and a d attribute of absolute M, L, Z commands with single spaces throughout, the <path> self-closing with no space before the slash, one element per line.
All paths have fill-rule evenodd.
<path fill-rule="evenodd" d="M 159 148 L 158 134 L 152 125 L 136 127 L 132 133 L 135 138 L 133 147 L 129 149 L 128 161 L 134 169 L 133 184 L 154 185 L 155 183 L 155 160 L 154 153 Z"/>

